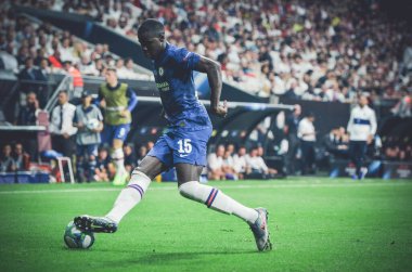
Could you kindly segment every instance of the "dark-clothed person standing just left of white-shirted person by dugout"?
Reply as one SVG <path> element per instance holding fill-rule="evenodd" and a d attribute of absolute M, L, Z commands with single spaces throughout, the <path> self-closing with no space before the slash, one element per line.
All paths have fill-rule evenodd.
<path fill-rule="evenodd" d="M 299 138 L 297 137 L 297 128 L 300 121 L 300 105 L 295 105 L 295 111 L 286 117 L 285 132 L 288 142 L 286 169 L 288 174 L 295 174 L 296 172 L 296 156 L 300 143 Z"/>

